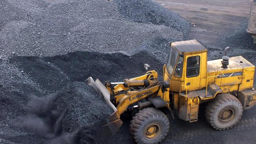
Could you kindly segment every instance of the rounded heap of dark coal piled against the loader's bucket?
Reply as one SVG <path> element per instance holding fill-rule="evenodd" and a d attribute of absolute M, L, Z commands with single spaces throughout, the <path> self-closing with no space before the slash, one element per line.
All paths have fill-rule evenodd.
<path fill-rule="evenodd" d="M 113 110 L 92 87 L 83 82 L 70 83 L 61 90 L 57 102 L 67 109 L 62 133 L 76 133 L 76 144 L 103 142 L 102 122 Z"/>

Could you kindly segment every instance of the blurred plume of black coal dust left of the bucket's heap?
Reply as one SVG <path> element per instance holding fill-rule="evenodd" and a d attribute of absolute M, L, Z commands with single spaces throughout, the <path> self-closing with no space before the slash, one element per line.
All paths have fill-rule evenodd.
<path fill-rule="evenodd" d="M 58 107 L 56 98 L 59 91 L 47 96 L 33 96 L 23 110 L 24 116 L 19 116 L 15 123 L 17 127 L 28 129 L 37 135 L 51 139 L 59 134 L 61 120 L 66 113 Z"/>

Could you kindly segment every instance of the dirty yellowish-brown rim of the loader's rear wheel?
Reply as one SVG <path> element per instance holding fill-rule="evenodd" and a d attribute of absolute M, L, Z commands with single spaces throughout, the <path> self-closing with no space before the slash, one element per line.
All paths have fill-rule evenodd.
<path fill-rule="evenodd" d="M 227 124 L 234 118 L 235 110 L 232 107 L 224 108 L 221 113 L 219 113 L 219 122 L 222 124 Z"/>

